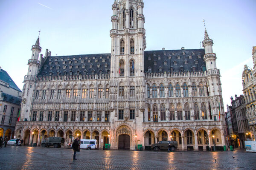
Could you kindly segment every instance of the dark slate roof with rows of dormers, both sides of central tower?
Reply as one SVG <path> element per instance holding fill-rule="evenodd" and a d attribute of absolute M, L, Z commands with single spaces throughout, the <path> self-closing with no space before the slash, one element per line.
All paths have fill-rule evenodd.
<path fill-rule="evenodd" d="M 144 72 L 205 71 L 204 54 L 204 49 L 144 51 Z M 49 56 L 38 76 L 110 74 L 110 62 L 110 53 Z"/>

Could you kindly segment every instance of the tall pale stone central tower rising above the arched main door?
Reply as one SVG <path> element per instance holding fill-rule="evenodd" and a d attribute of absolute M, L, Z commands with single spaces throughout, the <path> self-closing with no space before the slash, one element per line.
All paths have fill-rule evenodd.
<path fill-rule="evenodd" d="M 145 108 L 143 7 L 142 0 L 115 0 L 111 17 L 110 110 L 114 115 L 111 119 L 120 121 L 119 113 L 123 111 L 121 120 L 125 122 L 131 119 L 131 111 L 135 111 L 134 125 L 143 122 Z M 134 130 L 139 133 L 136 127 Z"/>

